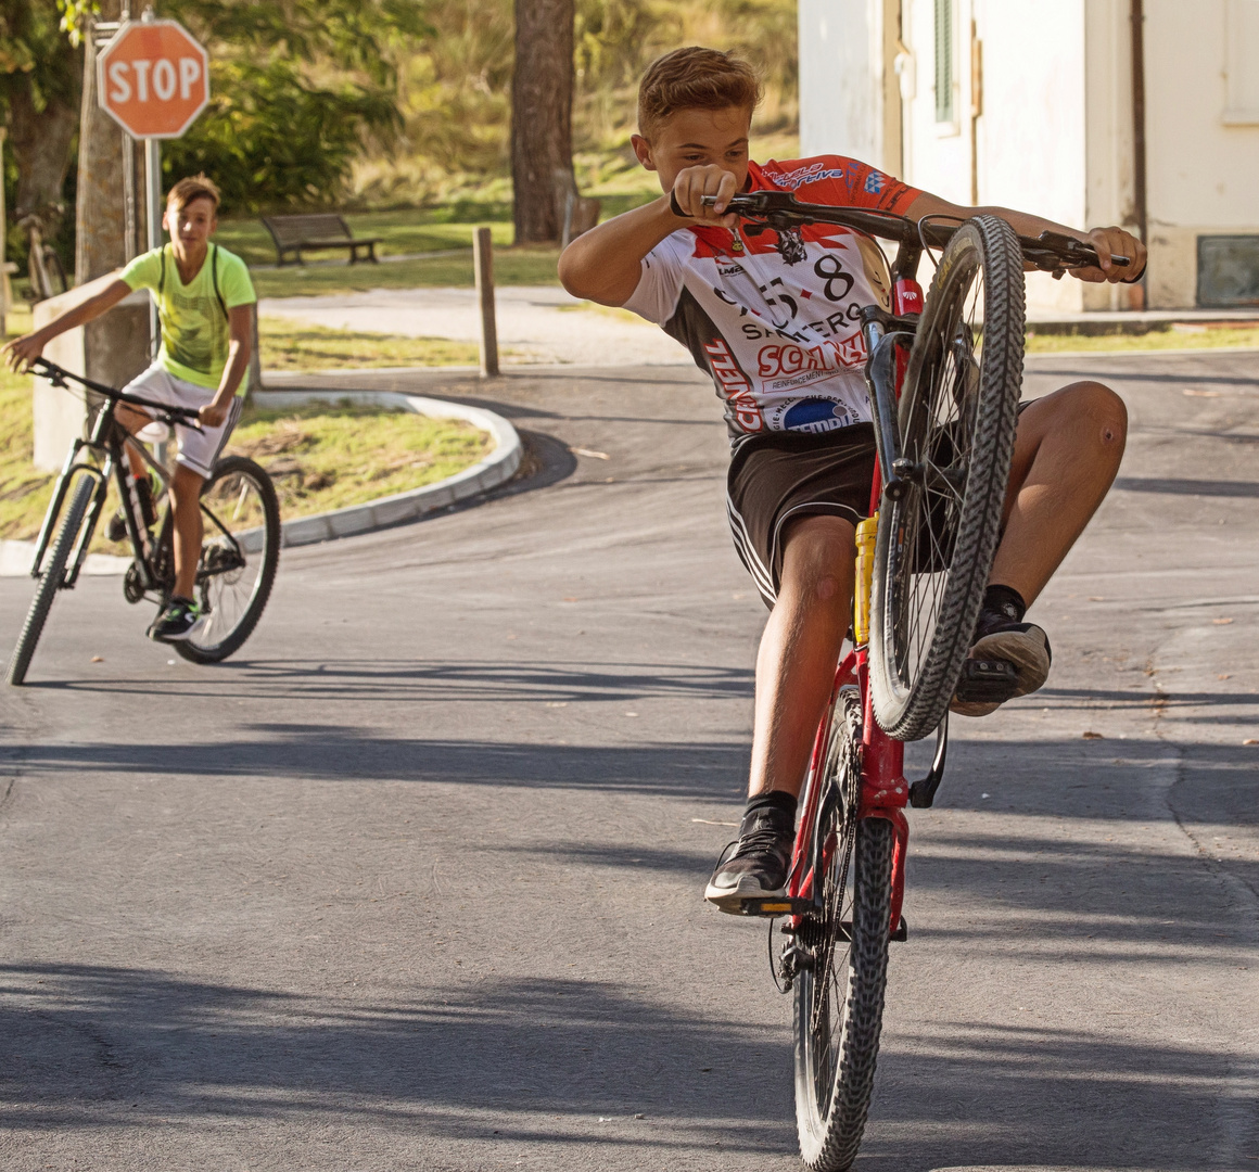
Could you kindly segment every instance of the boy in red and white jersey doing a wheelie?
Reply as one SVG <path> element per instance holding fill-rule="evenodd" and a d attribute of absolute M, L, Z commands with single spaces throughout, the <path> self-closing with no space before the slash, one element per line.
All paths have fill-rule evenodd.
<path fill-rule="evenodd" d="M 752 68 L 687 48 L 647 70 L 638 91 L 640 162 L 665 195 L 578 237 L 560 257 L 564 287 L 662 326 L 708 371 L 731 438 L 728 512 L 735 548 L 771 608 L 757 656 L 749 798 L 733 852 L 705 898 L 725 911 L 779 895 L 797 796 L 852 613 L 855 526 L 875 465 L 857 313 L 886 305 L 871 242 L 835 229 L 745 237 L 725 211 L 740 191 L 788 190 L 812 204 L 878 208 L 910 219 L 988 213 L 1021 235 L 1092 244 L 1085 281 L 1139 277 L 1146 249 L 1119 228 L 1080 233 L 1005 208 L 962 208 L 838 156 L 758 165 L 748 157 L 759 101 Z M 705 203 L 709 198 L 711 203 Z M 1127 268 L 1112 254 L 1132 258 Z M 1123 456 L 1127 413 L 1107 386 L 1079 381 L 1026 404 L 1019 419 L 1003 532 L 971 647 L 1015 668 L 1005 694 L 952 709 L 987 715 L 1041 687 L 1045 632 L 1024 622 L 1102 502 Z M 990 685 L 991 687 L 991 685 Z"/>

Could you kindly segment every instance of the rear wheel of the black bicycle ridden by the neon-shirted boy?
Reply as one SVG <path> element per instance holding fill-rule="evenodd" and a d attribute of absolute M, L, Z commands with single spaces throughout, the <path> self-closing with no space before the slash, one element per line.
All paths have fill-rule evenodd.
<path fill-rule="evenodd" d="M 204 618 L 175 650 L 194 663 L 238 651 L 258 626 L 279 563 L 279 501 L 271 477 L 244 456 L 214 466 L 201 487 L 205 538 L 196 568 Z"/>

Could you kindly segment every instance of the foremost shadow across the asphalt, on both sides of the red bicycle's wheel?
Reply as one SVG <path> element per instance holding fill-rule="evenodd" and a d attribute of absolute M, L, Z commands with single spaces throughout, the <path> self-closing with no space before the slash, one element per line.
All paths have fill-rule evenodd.
<path fill-rule="evenodd" d="M 365 1003 L 140 968 L 9 964 L 0 978 L 10 1128 L 332 1113 L 417 1141 L 719 1142 L 763 1158 L 793 1147 L 784 1030 L 701 1020 L 612 983 L 488 978 Z M 891 1030 L 860 1166 L 990 1166 L 996 1125 L 1003 1167 L 1196 1169 L 1200 1137 L 1183 1120 L 1210 1118 L 1238 1074 L 1225 1055 L 1118 1032 Z M 601 1119 L 616 1125 L 592 1134 Z M 909 1125 L 917 1151 L 898 1137 Z"/>

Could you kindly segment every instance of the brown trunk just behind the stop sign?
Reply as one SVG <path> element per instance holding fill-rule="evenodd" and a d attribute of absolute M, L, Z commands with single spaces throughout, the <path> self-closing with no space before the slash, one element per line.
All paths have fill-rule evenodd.
<path fill-rule="evenodd" d="M 99 19 L 117 20 L 121 11 L 121 0 L 102 0 Z M 101 110 L 96 91 L 96 57 L 101 45 L 91 31 L 84 42 L 78 208 L 74 217 L 74 279 L 79 285 L 113 272 L 135 254 L 135 240 L 127 247 L 122 188 L 122 155 L 125 150 L 131 150 L 131 141 L 122 127 Z M 140 183 L 144 183 L 142 176 Z"/>

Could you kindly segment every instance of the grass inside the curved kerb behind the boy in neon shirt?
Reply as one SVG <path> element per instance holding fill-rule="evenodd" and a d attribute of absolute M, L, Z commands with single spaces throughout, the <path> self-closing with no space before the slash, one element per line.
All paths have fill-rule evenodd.
<path fill-rule="evenodd" d="M 33 539 L 52 496 L 53 473 L 30 463 L 34 443 L 30 379 L 0 374 L 0 538 Z M 349 404 L 247 408 L 229 452 L 271 472 L 281 515 L 308 516 L 393 492 L 419 488 L 481 459 L 492 441 L 460 419 Z M 106 505 L 106 516 L 116 504 Z M 126 554 L 97 526 L 92 549 Z"/>

